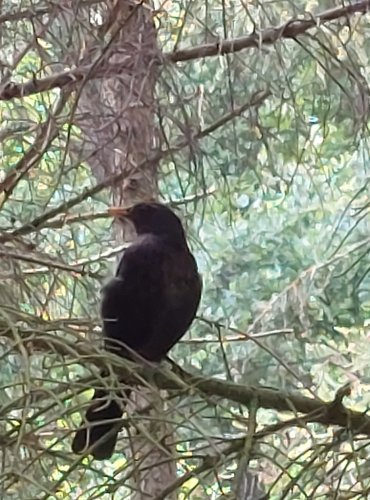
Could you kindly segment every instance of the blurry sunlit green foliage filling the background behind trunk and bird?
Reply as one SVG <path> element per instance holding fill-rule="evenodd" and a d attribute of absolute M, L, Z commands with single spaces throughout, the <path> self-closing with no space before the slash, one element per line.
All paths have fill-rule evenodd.
<path fill-rule="evenodd" d="M 157 18 L 163 51 L 260 33 L 332 2 L 234 2 L 225 11 L 223 5 L 166 4 L 167 15 Z M 27 5 L 5 2 L 4 8 L 20 7 Z M 1 57 L 14 65 L 11 80 L 48 76 L 53 64 L 60 71 L 69 37 L 83 33 L 80 14 L 73 33 L 63 32 L 59 19 L 62 41 L 52 30 L 41 34 L 41 48 L 30 47 L 18 62 L 14 39 L 31 43 L 32 23 L 4 23 Z M 171 147 L 189 143 L 162 159 L 160 190 L 179 205 L 204 280 L 199 319 L 171 353 L 188 371 L 325 401 L 351 382 L 345 404 L 367 410 L 369 29 L 368 18 L 355 15 L 295 39 L 163 69 L 158 129 Z M 197 138 L 264 90 L 270 94 L 259 105 Z M 39 125 L 58 125 L 37 163 L 0 198 L 0 238 L 13 233 L 0 240 L 12 253 L 0 269 L 6 443 L 0 484 L 6 498 L 123 498 L 126 437 L 111 462 L 79 463 L 69 451 L 78 410 L 90 396 L 81 394 L 79 380 L 97 376 L 73 345 L 78 338 L 99 343 L 99 289 L 119 250 L 100 213 L 109 202 L 107 189 L 71 203 L 97 181 L 75 150 L 83 134 L 71 125 L 75 95 L 54 116 L 59 96 L 54 89 L 0 101 L 1 182 L 38 144 Z M 65 209 L 66 203 L 73 206 Z M 82 214 L 91 217 L 78 218 Z M 33 260 L 24 260 L 29 245 Z M 37 342 L 36 352 L 20 349 L 21 335 L 52 335 L 72 347 L 68 356 L 41 353 Z M 176 426 L 178 475 L 195 471 L 179 485 L 179 498 L 230 494 L 250 409 L 195 392 L 170 396 L 165 418 Z M 309 419 L 282 424 L 296 416 L 257 412 L 249 469 L 269 498 L 366 498 L 368 441 Z M 222 459 L 203 470 L 217 453 Z"/>

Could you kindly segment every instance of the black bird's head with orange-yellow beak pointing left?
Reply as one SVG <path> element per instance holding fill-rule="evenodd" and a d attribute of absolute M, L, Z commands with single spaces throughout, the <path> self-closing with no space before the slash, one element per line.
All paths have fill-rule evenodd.
<path fill-rule="evenodd" d="M 111 207 L 108 213 L 118 219 L 132 222 L 138 235 L 155 234 L 179 243 L 185 241 L 180 219 L 161 203 L 137 203 L 129 208 Z"/>

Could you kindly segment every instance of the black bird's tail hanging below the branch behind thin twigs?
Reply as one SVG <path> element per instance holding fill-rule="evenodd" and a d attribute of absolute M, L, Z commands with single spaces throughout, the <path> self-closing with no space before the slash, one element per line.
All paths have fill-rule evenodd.
<path fill-rule="evenodd" d="M 117 398 L 108 391 L 96 390 L 86 412 L 84 425 L 77 430 L 73 439 L 72 451 L 76 454 L 89 452 L 96 460 L 110 458 L 116 446 L 121 427 L 118 419 L 122 413 Z"/>

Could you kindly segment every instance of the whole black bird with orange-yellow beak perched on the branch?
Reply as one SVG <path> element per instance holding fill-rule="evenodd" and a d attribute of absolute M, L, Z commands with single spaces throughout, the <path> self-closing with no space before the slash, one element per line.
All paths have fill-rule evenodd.
<path fill-rule="evenodd" d="M 198 309 L 202 283 L 180 219 L 159 203 L 111 208 L 134 224 L 137 239 L 103 288 L 105 349 L 125 358 L 160 362 L 184 335 Z M 122 391 L 126 398 L 129 391 Z M 75 453 L 111 457 L 123 413 L 122 399 L 96 390 L 73 440 Z M 108 435 L 109 434 L 109 435 Z M 98 442 L 99 441 L 99 442 Z"/>

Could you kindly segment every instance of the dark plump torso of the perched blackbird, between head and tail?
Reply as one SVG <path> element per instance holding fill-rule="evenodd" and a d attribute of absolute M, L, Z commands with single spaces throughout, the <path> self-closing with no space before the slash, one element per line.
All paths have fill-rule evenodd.
<path fill-rule="evenodd" d="M 187 248 L 158 238 L 141 240 L 126 250 L 116 278 L 103 292 L 106 347 L 160 361 L 190 326 L 200 295 L 196 263 Z"/>

